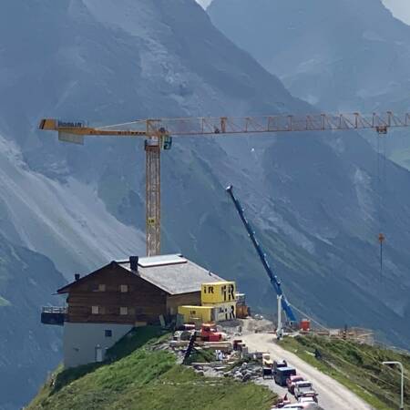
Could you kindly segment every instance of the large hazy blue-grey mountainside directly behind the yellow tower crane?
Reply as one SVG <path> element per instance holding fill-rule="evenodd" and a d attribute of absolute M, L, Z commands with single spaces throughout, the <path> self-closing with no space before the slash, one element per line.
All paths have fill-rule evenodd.
<path fill-rule="evenodd" d="M 0 34 L 0 243 L 27 250 L 20 259 L 42 286 L 22 287 L 19 301 L 31 292 L 38 309 L 54 302 L 46 294 L 65 281 L 59 272 L 67 280 L 143 254 L 145 225 L 143 141 L 67 146 L 37 132 L 39 118 L 101 125 L 315 109 L 223 36 L 194 0 L 5 0 Z M 272 312 L 275 296 L 224 192 L 232 183 L 293 304 L 323 323 L 372 327 L 405 346 L 410 194 L 401 187 L 410 174 L 386 164 L 392 182 L 381 204 L 373 154 L 354 133 L 175 138 L 162 155 L 163 252 L 180 251 L 237 280 L 254 310 Z M 380 214 L 389 238 L 382 279 Z M 44 266 L 29 264 L 34 255 Z M 13 277 L 11 289 L 27 280 Z M 41 339 L 36 353 L 27 348 L 15 362 L 0 362 L 0 382 L 18 366 L 30 364 L 35 374 L 30 388 L 17 372 L 15 388 L 1 391 L 0 408 L 9 410 L 55 367 L 59 339 L 40 325 L 33 304 L 26 309 L 36 314 L 23 324 L 25 310 L 4 283 L 0 296 L 13 315 L 0 303 L 7 348 L 24 337 L 22 327 L 38 326 L 33 337 Z M 50 346 L 56 352 L 40 367 Z"/>

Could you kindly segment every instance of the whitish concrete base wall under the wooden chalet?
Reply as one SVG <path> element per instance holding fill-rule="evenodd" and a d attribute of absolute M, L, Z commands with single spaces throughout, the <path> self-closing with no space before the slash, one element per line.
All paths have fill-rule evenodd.
<path fill-rule="evenodd" d="M 113 323 L 64 323 L 64 366 L 76 367 L 96 362 L 97 346 L 102 350 L 104 359 L 106 350 L 132 327 L 129 324 Z M 111 337 L 106 337 L 106 330 L 111 331 Z"/>

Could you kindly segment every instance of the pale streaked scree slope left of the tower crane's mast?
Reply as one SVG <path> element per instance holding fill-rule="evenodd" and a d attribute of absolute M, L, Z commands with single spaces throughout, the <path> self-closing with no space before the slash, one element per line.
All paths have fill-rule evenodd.
<path fill-rule="evenodd" d="M 116 255 L 144 249 L 142 233 L 110 215 L 95 186 L 33 171 L 15 141 L 1 136 L 0 187 L 2 233 L 53 258 L 68 279 Z"/>

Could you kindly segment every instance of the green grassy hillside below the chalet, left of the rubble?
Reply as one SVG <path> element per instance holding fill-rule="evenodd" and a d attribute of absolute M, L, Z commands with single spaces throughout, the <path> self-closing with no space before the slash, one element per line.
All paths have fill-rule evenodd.
<path fill-rule="evenodd" d="M 163 338 L 164 336 L 162 336 Z M 166 337 L 166 336 L 165 336 Z M 28 410 L 270 409 L 275 396 L 263 386 L 208 378 L 155 350 L 158 328 L 138 328 L 110 351 L 110 362 L 57 370 Z"/>

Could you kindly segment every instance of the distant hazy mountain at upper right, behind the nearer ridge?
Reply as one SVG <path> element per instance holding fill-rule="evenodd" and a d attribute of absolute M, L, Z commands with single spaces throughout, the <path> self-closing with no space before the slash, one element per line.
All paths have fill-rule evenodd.
<path fill-rule="evenodd" d="M 325 112 L 410 110 L 410 26 L 382 0 L 215 0 L 208 13 L 292 95 Z M 390 132 L 385 151 L 408 169 L 408 131 Z"/>

